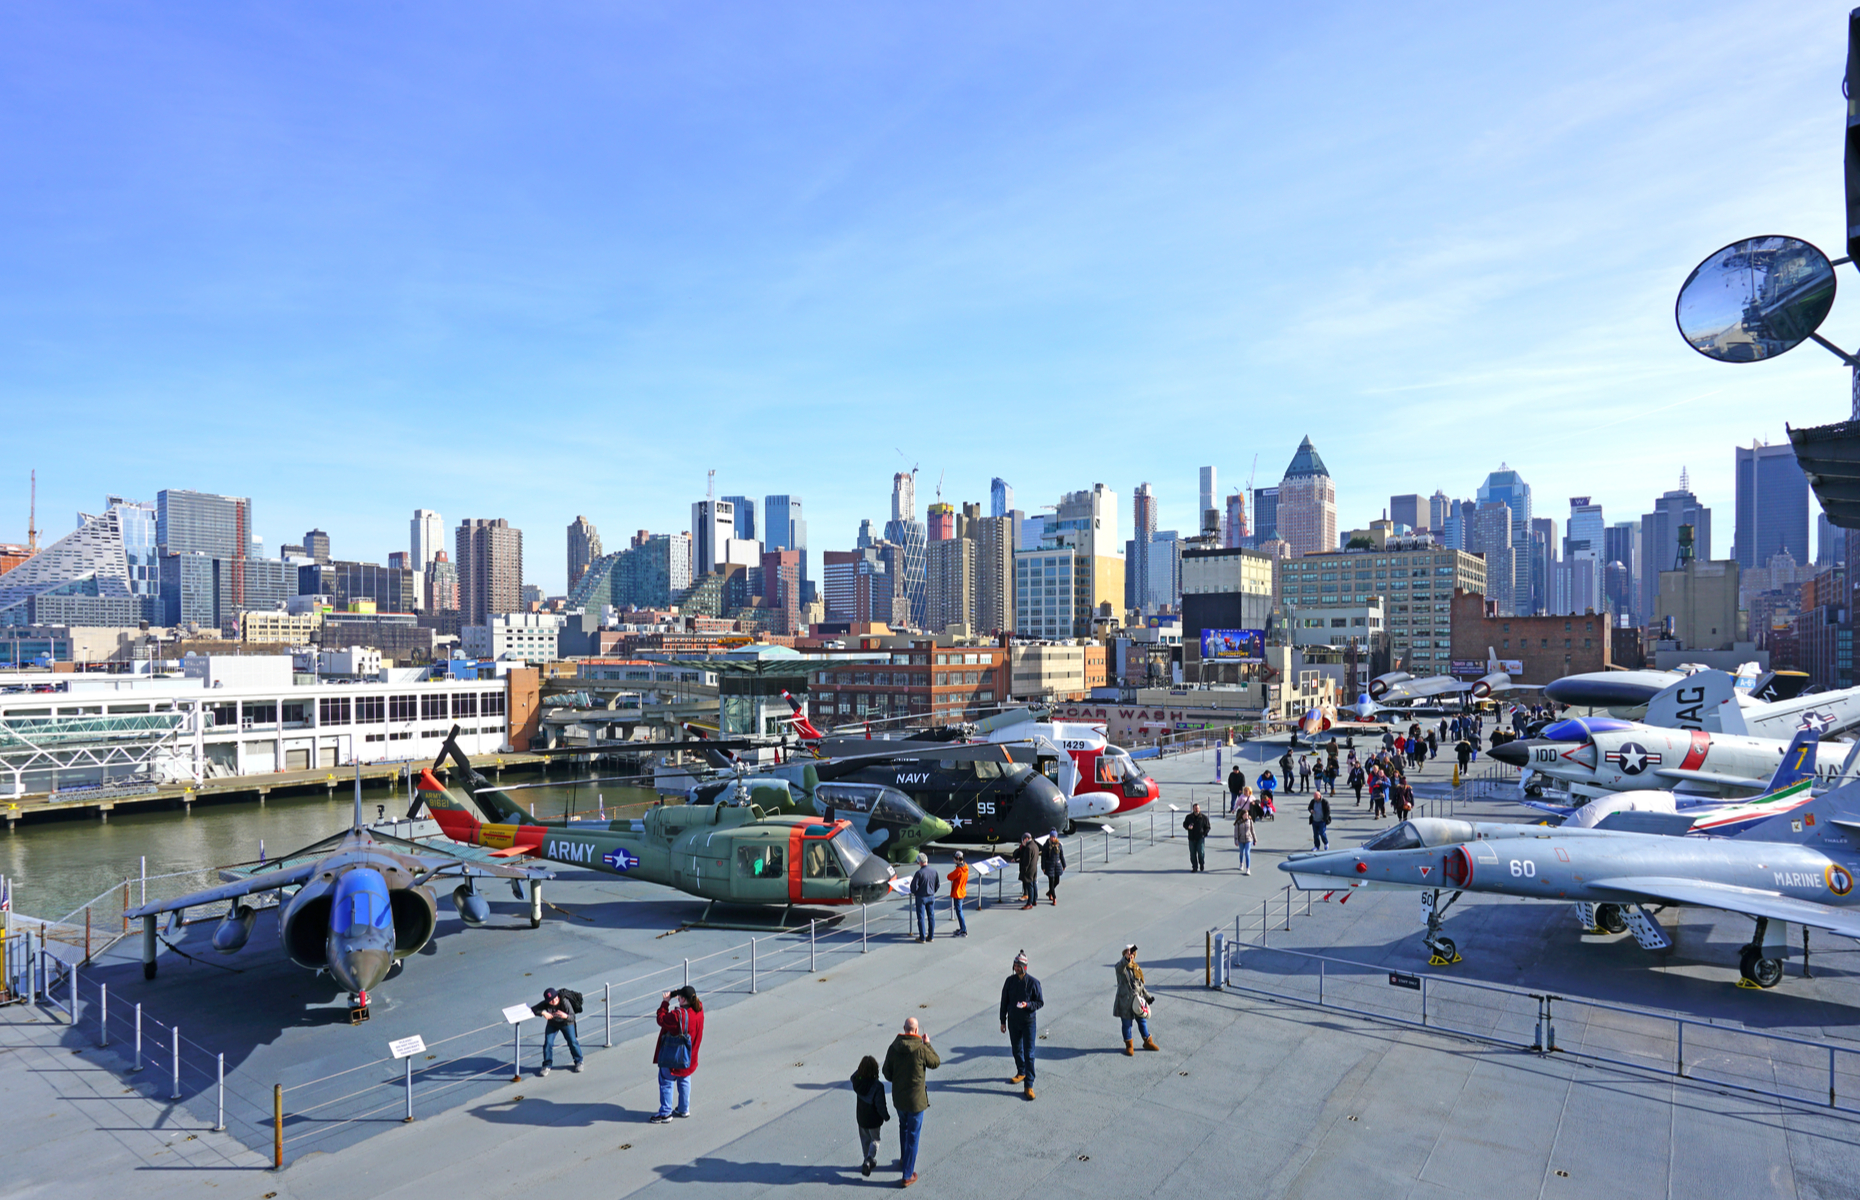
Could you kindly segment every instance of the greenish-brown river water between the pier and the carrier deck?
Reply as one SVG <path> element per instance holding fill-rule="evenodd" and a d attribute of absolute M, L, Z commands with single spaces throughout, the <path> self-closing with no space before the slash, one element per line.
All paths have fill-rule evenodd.
<path fill-rule="evenodd" d="M 515 776 L 506 780 L 521 781 Z M 398 789 L 365 785 L 361 794 L 366 820 L 376 819 L 376 806 L 385 807 L 391 819 L 407 811 L 405 781 Z M 616 809 L 636 813 L 655 800 L 651 789 L 586 780 L 523 787 L 512 796 L 525 807 L 534 804 L 538 817 L 556 817 L 571 806 L 575 813 L 590 813 L 601 798 L 608 815 Z M 138 876 L 143 854 L 149 856 L 151 876 L 182 873 L 149 884 L 151 899 L 180 895 L 219 884 L 216 867 L 259 858 L 260 839 L 266 856 L 279 858 L 340 833 L 350 826 L 353 811 L 355 791 L 346 787 L 333 796 L 195 804 L 192 813 L 117 809 L 110 820 L 87 817 L 20 822 L 15 833 L 0 833 L 0 874 L 13 882 L 13 910 L 33 917 L 58 919 L 93 897 L 113 891 L 110 902 L 100 904 L 93 915 L 99 930 L 108 932 L 121 921 L 123 880 Z M 130 884 L 130 906 L 136 902 L 140 889 Z"/>

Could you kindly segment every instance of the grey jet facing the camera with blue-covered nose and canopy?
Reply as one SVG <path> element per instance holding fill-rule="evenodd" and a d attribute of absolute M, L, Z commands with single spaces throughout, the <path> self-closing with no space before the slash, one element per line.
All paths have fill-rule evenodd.
<path fill-rule="evenodd" d="M 465 925 L 484 925 L 491 906 L 476 891 L 476 878 L 497 876 L 530 880 L 530 925 L 541 925 L 541 880 L 547 867 L 504 867 L 467 860 L 441 847 L 378 833 L 363 824 L 361 768 L 355 772 L 355 820 L 335 837 L 324 837 L 301 850 L 251 869 L 227 869 L 219 887 L 193 891 L 173 900 L 154 900 L 128 910 L 141 919 L 141 975 L 154 979 L 154 919 L 190 908 L 229 900 L 227 913 L 214 930 L 214 949 L 231 954 L 246 945 L 259 912 L 244 900 L 262 891 L 281 893 L 277 940 L 299 967 L 327 971 L 350 993 L 352 1021 L 368 1018 L 368 992 L 396 962 L 418 954 L 439 925 L 439 906 L 428 884 L 439 878 L 463 880 L 452 902 Z"/>

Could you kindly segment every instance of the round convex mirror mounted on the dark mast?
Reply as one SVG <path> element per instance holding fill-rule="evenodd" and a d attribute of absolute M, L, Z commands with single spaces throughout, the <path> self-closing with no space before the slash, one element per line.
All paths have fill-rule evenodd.
<path fill-rule="evenodd" d="M 1760 363 L 1795 350 L 1834 307 L 1834 266 L 1800 238 L 1745 238 L 1693 268 L 1680 337 L 1707 359 Z"/>

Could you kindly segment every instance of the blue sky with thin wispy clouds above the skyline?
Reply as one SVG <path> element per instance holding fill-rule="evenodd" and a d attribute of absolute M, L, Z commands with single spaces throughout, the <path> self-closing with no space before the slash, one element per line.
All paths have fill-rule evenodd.
<path fill-rule="evenodd" d="M 818 551 L 911 463 L 1187 527 L 1309 433 L 1345 525 L 1689 467 L 1724 554 L 1732 445 L 1849 411 L 1672 327 L 1724 242 L 1841 253 L 1836 4 L 4 13 L 0 540 L 37 467 L 50 536 L 201 487 L 381 560 L 424 506 L 554 592 L 712 467 Z"/>

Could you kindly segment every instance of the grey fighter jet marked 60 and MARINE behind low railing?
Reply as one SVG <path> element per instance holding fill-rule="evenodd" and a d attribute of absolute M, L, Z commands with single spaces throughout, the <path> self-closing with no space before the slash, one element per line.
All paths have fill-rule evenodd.
<path fill-rule="evenodd" d="M 1737 967 L 1748 984 L 1774 988 L 1787 923 L 1860 938 L 1856 835 L 1860 783 L 1849 783 L 1735 839 L 1423 819 L 1356 850 L 1295 854 L 1280 871 L 1302 891 L 1421 891 L 1423 943 L 1434 966 L 1460 960 L 1440 930 L 1468 891 L 1570 900 L 1585 932 L 1631 930 L 1648 951 L 1672 945 L 1650 908 L 1717 908 L 1756 923 Z M 1442 900 L 1442 891 L 1451 895 Z"/>

